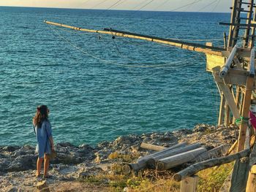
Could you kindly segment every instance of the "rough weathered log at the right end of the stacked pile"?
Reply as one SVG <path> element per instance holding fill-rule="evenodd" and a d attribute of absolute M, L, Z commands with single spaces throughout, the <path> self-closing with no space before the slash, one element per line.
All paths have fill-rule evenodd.
<path fill-rule="evenodd" d="M 198 155 L 193 161 L 205 161 L 208 158 L 217 158 L 219 156 L 222 156 L 222 154 L 227 153 L 227 145 L 220 145 L 219 147 L 215 147 L 211 150 L 206 151 L 205 153 L 202 153 L 201 155 Z"/>

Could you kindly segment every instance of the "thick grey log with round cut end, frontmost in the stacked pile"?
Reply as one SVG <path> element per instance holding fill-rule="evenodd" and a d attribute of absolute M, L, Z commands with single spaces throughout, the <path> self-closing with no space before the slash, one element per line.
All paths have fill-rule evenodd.
<path fill-rule="evenodd" d="M 194 159 L 197 155 L 200 155 L 206 151 L 207 150 L 205 147 L 200 147 L 195 150 L 189 150 L 184 153 L 173 155 L 167 158 L 162 158 L 157 162 L 157 169 L 167 170 L 175 166 L 187 163 L 189 161 L 192 161 L 192 159 Z"/>

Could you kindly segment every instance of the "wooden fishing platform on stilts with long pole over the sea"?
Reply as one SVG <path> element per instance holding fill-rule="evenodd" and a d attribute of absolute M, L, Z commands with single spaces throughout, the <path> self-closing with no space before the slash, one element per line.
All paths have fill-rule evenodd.
<path fill-rule="evenodd" d="M 228 37 L 224 33 L 224 47 L 214 47 L 211 42 L 206 43 L 206 45 L 200 45 L 179 41 L 177 39 L 165 39 L 127 31 L 118 31 L 113 28 L 92 30 L 53 23 L 46 20 L 45 23 L 53 26 L 71 28 L 77 31 L 143 39 L 150 42 L 157 42 L 180 47 L 181 49 L 205 53 L 207 61 L 206 70 L 213 74 L 214 81 L 217 84 L 221 97 L 218 124 L 220 125 L 224 123 L 226 126 L 229 126 L 230 123 L 235 123 L 236 120 L 240 122 L 240 131 L 237 142 L 237 152 L 240 152 L 246 150 L 248 140 L 251 138 L 250 136 L 255 134 L 255 132 L 248 127 L 247 121 L 251 101 L 256 101 L 254 47 L 256 11 L 254 0 L 233 0 L 233 6 L 230 7 L 230 9 L 232 9 L 230 23 L 219 23 L 221 25 L 230 26 Z M 250 167 L 256 164 L 255 158 L 250 158 L 250 161 Z M 246 186 L 250 167 L 244 164 L 244 166 L 242 166 L 242 164 L 243 163 L 241 163 L 240 160 L 236 161 L 234 166 L 236 173 L 234 173 L 235 171 L 233 172 L 231 181 L 233 186 L 238 185 L 237 183 L 239 183 L 239 186 Z M 244 176 L 241 177 L 241 175 L 237 175 L 239 172 L 243 172 Z M 252 178 L 249 177 L 249 180 L 252 180 Z M 230 190 L 239 192 L 244 191 L 241 187 L 234 188 Z"/>

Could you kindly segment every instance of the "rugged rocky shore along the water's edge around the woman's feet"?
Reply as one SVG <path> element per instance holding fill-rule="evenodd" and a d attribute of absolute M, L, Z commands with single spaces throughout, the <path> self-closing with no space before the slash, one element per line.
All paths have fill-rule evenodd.
<path fill-rule="evenodd" d="M 113 173 L 113 164 L 124 164 L 122 159 L 110 158 L 111 154 L 143 156 L 153 151 L 140 148 L 142 142 L 170 147 L 178 142 L 201 142 L 207 147 L 232 145 L 238 137 L 236 126 L 209 126 L 200 124 L 193 129 L 156 132 L 142 135 L 130 134 L 110 142 L 100 142 L 96 147 L 69 142 L 59 143 L 57 157 L 50 161 L 47 179 L 50 191 L 108 191 L 106 185 L 95 186 L 80 182 L 96 174 Z M 34 146 L 0 146 L 0 191 L 37 191 L 42 179 L 35 178 L 37 155 Z"/>

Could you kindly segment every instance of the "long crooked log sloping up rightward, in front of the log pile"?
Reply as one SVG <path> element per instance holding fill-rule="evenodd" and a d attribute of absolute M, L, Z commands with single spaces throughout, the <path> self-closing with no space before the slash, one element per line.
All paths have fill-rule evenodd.
<path fill-rule="evenodd" d="M 197 164 L 193 164 L 192 166 L 187 167 L 186 169 L 183 169 L 181 172 L 178 172 L 174 174 L 173 179 L 176 181 L 181 181 L 185 177 L 191 176 L 203 169 L 207 169 L 209 167 L 213 166 L 218 166 L 221 164 L 228 164 L 232 161 L 235 161 L 238 158 L 244 158 L 245 156 L 249 155 L 250 150 L 242 150 L 239 153 L 233 154 L 233 155 L 228 155 L 225 157 L 220 157 L 220 158 L 214 158 L 206 161 L 202 161 Z"/>

